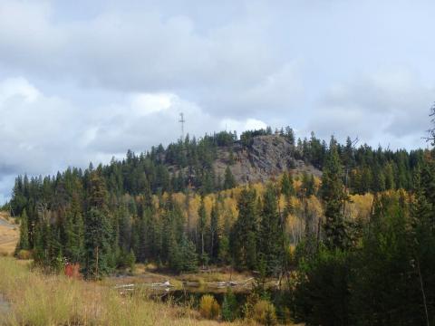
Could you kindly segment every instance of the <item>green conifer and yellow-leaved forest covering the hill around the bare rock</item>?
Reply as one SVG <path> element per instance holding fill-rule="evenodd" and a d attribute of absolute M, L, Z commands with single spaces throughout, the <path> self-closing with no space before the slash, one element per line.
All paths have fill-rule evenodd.
<path fill-rule="evenodd" d="M 432 115 L 433 115 L 432 110 Z M 276 130 L 322 171 L 237 185 L 218 150 L 271 129 L 180 139 L 56 176 L 20 176 L 8 204 L 16 254 L 102 278 L 139 263 L 169 273 L 231 266 L 283 283 L 283 311 L 307 325 L 435 324 L 435 152 L 373 149 Z M 433 132 L 430 135 L 433 141 Z M 263 286 L 262 286 L 263 284 Z"/>

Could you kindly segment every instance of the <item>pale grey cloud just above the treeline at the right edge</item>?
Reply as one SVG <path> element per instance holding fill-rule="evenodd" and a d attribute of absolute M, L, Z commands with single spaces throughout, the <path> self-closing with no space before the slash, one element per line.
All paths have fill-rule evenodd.
<path fill-rule="evenodd" d="M 397 147 L 419 146 L 430 127 L 435 88 L 425 86 L 409 69 L 398 67 L 335 85 L 319 102 L 309 128 L 322 136 L 335 134 Z"/>

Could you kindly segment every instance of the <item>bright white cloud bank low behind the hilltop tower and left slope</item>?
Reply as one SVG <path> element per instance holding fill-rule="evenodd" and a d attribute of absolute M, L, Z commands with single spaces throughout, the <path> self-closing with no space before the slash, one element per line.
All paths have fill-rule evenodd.
<path fill-rule="evenodd" d="M 180 112 L 190 135 L 210 134 L 226 124 L 239 133 L 266 127 L 256 119 L 217 120 L 175 93 L 125 93 L 107 105 L 78 107 L 44 94 L 24 77 L 0 81 L 0 115 L 5 117 L 0 121 L 0 192 L 11 189 L 19 174 L 85 168 L 90 161 L 122 158 L 127 149 L 141 152 L 167 145 L 180 137 Z"/>

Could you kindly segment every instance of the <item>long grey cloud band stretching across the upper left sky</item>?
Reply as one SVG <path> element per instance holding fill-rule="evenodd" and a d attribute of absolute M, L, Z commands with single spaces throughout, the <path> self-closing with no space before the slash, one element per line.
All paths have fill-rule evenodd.
<path fill-rule="evenodd" d="M 0 64 L 86 89 L 181 93 L 216 116 L 289 110 L 303 93 L 300 62 L 277 55 L 265 13 L 198 30 L 150 9 L 54 22 L 48 4 L 2 2 Z"/>

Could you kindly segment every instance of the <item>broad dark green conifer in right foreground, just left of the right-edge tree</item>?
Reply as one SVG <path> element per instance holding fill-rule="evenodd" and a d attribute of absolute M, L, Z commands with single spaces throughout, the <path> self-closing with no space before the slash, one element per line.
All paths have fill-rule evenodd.
<path fill-rule="evenodd" d="M 361 325 L 425 325 L 412 258 L 407 208 L 400 194 L 377 197 L 354 257 L 352 318 Z M 420 303 L 421 302 L 421 303 Z"/>

